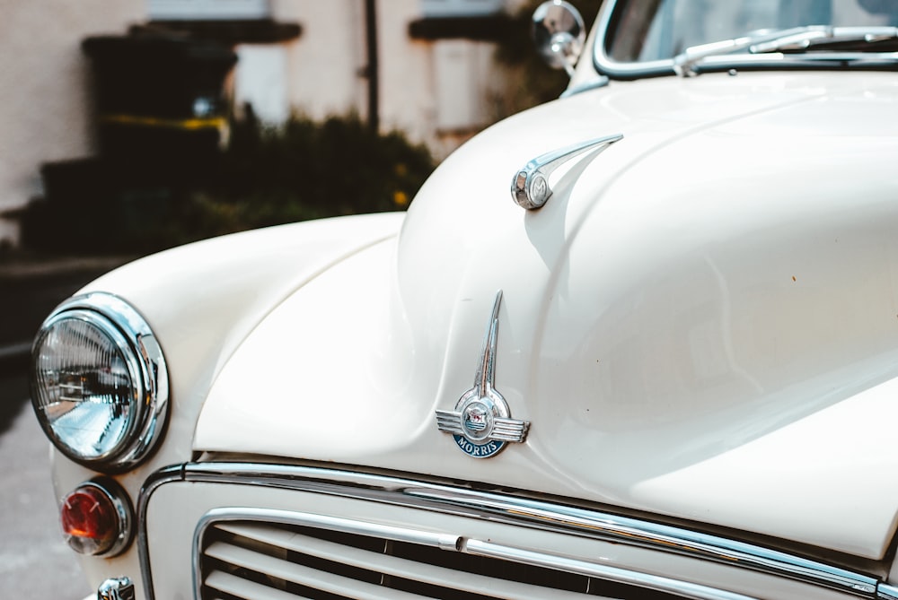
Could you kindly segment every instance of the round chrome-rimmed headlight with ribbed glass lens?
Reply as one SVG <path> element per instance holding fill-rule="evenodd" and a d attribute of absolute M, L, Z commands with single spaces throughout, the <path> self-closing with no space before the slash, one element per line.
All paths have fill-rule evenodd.
<path fill-rule="evenodd" d="M 168 412 L 168 373 L 153 332 L 117 296 L 66 300 L 31 353 L 31 402 L 66 457 L 116 471 L 153 448 Z"/>

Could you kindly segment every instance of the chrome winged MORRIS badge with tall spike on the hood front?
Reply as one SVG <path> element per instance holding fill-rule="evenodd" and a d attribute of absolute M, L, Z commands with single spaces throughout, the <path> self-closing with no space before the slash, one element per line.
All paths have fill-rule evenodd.
<path fill-rule="evenodd" d="M 524 441 L 530 429 L 529 421 L 511 418 L 505 398 L 493 387 L 501 303 L 502 291 L 499 290 L 493 304 L 493 315 L 487 326 L 487 335 L 483 340 L 474 387 L 462 394 L 455 404 L 455 410 L 436 411 L 436 426 L 439 430 L 453 434 L 458 447 L 475 458 L 495 456 L 508 442 Z"/>

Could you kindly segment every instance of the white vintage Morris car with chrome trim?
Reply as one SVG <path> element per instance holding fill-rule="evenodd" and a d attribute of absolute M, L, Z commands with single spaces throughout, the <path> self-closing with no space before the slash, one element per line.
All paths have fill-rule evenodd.
<path fill-rule="evenodd" d="M 898 2 L 534 23 L 568 91 L 408 213 L 163 252 L 48 317 L 100 598 L 898 598 Z"/>

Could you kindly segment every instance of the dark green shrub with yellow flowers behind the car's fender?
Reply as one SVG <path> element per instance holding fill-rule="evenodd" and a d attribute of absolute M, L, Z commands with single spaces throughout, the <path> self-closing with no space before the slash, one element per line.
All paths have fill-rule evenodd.
<path fill-rule="evenodd" d="M 400 133 L 359 117 L 233 126 L 220 169 L 189 197 L 184 217 L 209 233 L 328 216 L 405 210 L 436 163 Z"/>

